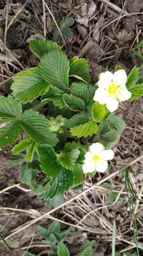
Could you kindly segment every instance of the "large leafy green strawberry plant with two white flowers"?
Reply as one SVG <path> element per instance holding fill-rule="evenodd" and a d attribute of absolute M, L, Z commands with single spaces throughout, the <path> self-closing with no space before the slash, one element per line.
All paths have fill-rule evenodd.
<path fill-rule="evenodd" d="M 20 156 L 22 183 L 31 186 L 31 195 L 56 205 L 68 189 L 82 188 L 84 173 L 107 170 L 126 126 L 114 111 L 142 96 L 143 84 L 139 68 L 127 76 L 117 66 L 93 85 L 87 60 L 69 60 L 47 40 L 29 47 L 38 67 L 17 74 L 11 94 L 0 96 L 0 147 L 16 143 L 12 152 Z"/>

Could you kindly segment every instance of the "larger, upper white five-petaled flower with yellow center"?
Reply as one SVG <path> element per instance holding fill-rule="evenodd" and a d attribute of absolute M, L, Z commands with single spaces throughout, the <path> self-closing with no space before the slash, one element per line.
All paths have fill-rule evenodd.
<path fill-rule="evenodd" d="M 115 111 L 120 101 L 128 100 L 132 96 L 126 88 L 126 80 L 126 72 L 123 69 L 114 74 L 109 71 L 101 73 L 93 99 L 100 104 L 106 104 L 110 112 Z"/>

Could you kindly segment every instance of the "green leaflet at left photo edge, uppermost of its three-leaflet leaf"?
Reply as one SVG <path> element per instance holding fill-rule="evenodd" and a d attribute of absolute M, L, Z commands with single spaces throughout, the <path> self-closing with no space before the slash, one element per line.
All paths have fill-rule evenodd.
<path fill-rule="evenodd" d="M 8 98 L 0 96 L 0 117 L 15 118 L 22 115 L 22 106 L 10 95 Z"/>

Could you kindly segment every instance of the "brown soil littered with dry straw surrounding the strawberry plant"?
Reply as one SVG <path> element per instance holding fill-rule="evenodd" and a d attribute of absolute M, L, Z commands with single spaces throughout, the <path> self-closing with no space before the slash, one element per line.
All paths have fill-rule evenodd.
<path fill-rule="evenodd" d="M 9 0 L 7 4 L 4 0 L 0 2 L 1 95 L 7 93 L 3 86 L 4 81 L 21 70 L 37 65 L 37 58 L 28 48 L 29 40 L 43 36 L 52 40 L 54 22 L 44 2 L 49 6 L 57 22 L 67 17 L 75 19 L 72 26 L 72 38 L 64 42 L 61 40 L 59 44 L 63 46 L 69 58 L 74 55 L 87 58 L 93 83 L 98 79 L 101 66 L 108 66 L 110 70 L 113 70 L 116 65 L 121 65 L 126 72 L 129 72 L 134 65 L 141 65 L 131 49 L 142 39 L 142 0 Z M 83 233 L 88 239 L 96 240 L 93 255 L 111 255 L 114 220 L 117 227 L 117 252 L 121 252 L 121 255 L 126 251 L 134 252 L 133 227 L 128 197 L 124 188 L 124 175 L 118 171 L 121 166 L 131 163 L 133 159 L 142 155 L 143 118 L 140 115 L 143 113 L 142 98 L 124 104 L 117 112 L 125 120 L 127 126 L 119 145 L 114 148 L 116 157 L 110 166 L 110 172 L 102 177 L 97 174 L 94 179 L 87 179 L 84 190 L 89 189 L 88 193 L 79 195 L 79 192 L 70 191 L 64 197 L 66 203 L 54 210 L 50 216 L 43 216 L 43 214 L 51 209 L 45 207 L 42 200 L 32 198 L 29 188 L 20 184 L 19 167 L 11 167 L 9 164 L 11 148 L 1 150 L 0 234 L 3 237 L 9 237 L 8 241 L 13 246 L 14 255 L 19 256 L 22 248 L 28 248 L 33 253 L 45 250 L 38 246 L 41 244 L 41 238 L 36 233 L 36 225 L 48 227 L 53 217 L 63 221 L 63 228 L 75 225 L 79 230 L 78 237 L 69 239 L 67 243 L 72 255 L 78 252 Z M 142 197 L 143 175 L 139 171 L 142 171 L 142 159 L 133 166 L 132 173 L 133 186 Z M 110 187 L 101 186 L 107 181 Z M 112 202 L 110 191 L 118 191 L 120 200 L 116 198 L 116 201 Z M 75 200 L 71 200 L 74 197 L 76 197 Z M 143 218 L 143 206 L 142 202 L 137 200 L 134 204 L 135 215 L 139 220 L 139 241 L 142 243 L 143 230 L 140 221 Z M 26 226 L 27 223 L 29 226 Z M 1 245 L 0 255 L 8 256 L 10 253 Z M 143 255 L 142 251 L 140 255 Z"/>

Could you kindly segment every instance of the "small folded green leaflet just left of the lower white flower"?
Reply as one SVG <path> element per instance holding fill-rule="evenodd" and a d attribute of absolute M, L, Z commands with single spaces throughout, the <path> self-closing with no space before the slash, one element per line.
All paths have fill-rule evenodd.
<path fill-rule="evenodd" d="M 63 152 L 60 156 L 60 160 L 63 163 L 63 166 L 67 169 L 73 170 L 75 162 L 80 155 L 80 150 L 75 148 L 70 152 Z"/>

